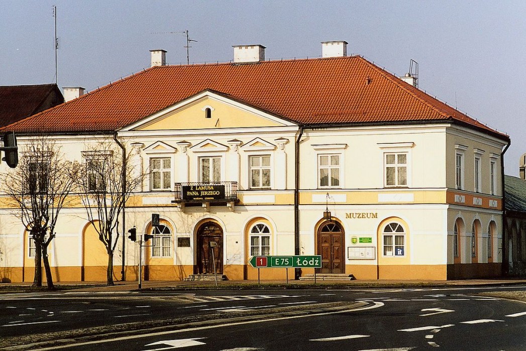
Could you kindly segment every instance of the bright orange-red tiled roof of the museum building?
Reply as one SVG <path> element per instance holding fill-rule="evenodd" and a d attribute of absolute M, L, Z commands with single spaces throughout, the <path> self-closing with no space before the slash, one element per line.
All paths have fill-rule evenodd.
<path fill-rule="evenodd" d="M 9 130 L 115 131 L 206 89 L 300 124 L 450 120 L 509 139 L 360 56 L 153 67 Z"/>

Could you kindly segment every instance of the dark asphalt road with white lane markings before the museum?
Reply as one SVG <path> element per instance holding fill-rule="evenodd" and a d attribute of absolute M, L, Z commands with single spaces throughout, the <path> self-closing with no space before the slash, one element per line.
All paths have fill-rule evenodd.
<path fill-rule="evenodd" d="M 24 337 L 37 341 L 43 333 L 56 339 L 89 327 L 118 331 L 118 325 L 133 325 L 133 333 L 117 332 L 95 343 L 94 337 L 71 339 L 64 346 L 72 350 L 523 350 L 526 304 L 475 295 L 507 290 L 525 288 L 9 294 L 0 295 L 0 335 L 17 342 Z M 177 323 L 170 325 L 177 318 L 196 323 L 182 329 Z M 210 322 L 214 319 L 221 321 Z M 151 324 L 159 321 L 168 323 L 163 328 Z"/>

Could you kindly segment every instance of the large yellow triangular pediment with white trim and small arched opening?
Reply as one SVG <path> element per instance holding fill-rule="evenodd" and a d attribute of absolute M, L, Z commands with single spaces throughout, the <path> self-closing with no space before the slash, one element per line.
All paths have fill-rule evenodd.
<path fill-rule="evenodd" d="M 296 125 L 218 92 L 205 90 L 161 110 L 123 131 L 204 130 Z"/>

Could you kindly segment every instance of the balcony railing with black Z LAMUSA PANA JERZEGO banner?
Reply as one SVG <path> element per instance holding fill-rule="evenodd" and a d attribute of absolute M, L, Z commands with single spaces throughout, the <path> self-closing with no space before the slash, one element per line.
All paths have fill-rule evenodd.
<path fill-rule="evenodd" d="M 174 203 L 238 202 L 237 182 L 175 183 Z"/>

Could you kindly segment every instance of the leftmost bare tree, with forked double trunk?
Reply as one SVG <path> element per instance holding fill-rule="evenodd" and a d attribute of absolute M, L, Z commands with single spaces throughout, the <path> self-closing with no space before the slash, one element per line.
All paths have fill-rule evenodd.
<path fill-rule="evenodd" d="M 55 141 L 34 137 L 20 152 L 18 166 L 3 174 L 6 195 L 17 205 L 12 214 L 31 233 L 35 254 L 33 286 L 42 286 L 42 262 L 47 288 L 54 289 L 48 246 L 55 238 L 55 226 L 62 208 L 72 204 L 78 165 L 67 161 Z"/>

